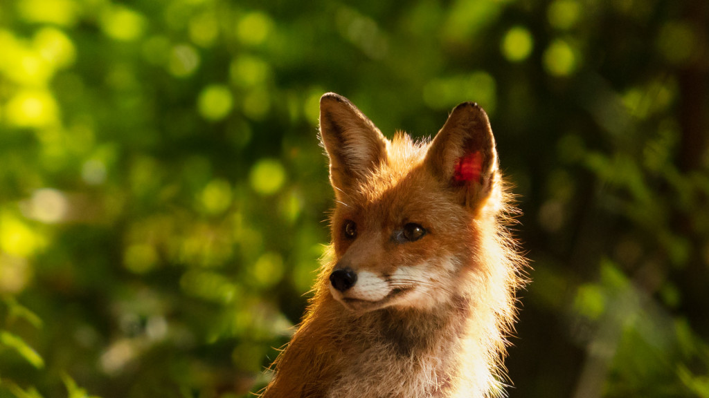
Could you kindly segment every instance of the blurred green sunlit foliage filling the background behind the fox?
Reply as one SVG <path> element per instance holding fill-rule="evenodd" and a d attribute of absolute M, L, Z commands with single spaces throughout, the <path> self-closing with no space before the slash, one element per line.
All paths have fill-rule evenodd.
<path fill-rule="evenodd" d="M 704 0 L 0 2 L 0 397 L 247 397 L 332 201 L 318 98 L 477 101 L 532 259 L 510 397 L 709 397 Z"/>

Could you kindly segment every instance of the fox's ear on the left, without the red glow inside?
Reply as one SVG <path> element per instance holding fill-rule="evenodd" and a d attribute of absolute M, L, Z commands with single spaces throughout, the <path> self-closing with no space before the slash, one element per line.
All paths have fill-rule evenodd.
<path fill-rule="evenodd" d="M 330 157 L 330 182 L 339 199 L 386 159 L 386 138 L 347 98 L 320 97 L 320 140 Z"/>

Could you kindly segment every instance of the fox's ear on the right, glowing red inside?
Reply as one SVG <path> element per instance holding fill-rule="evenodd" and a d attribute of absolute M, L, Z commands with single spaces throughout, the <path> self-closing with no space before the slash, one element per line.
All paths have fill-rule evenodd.
<path fill-rule="evenodd" d="M 485 111 L 476 103 L 455 107 L 426 153 L 425 165 L 440 181 L 478 207 L 489 197 L 498 168 L 495 138 Z"/>

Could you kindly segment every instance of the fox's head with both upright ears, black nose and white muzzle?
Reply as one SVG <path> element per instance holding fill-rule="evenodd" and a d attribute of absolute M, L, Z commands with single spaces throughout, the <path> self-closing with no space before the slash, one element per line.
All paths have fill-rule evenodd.
<path fill-rule="evenodd" d="M 483 246 L 502 189 L 482 108 L 460 104 L 433 140 L 389 141 L 347 98 L 326 93 L 320 139 L 337 203 L 323 283 L 346 309 L 435 309 L 494 273 Z"/>

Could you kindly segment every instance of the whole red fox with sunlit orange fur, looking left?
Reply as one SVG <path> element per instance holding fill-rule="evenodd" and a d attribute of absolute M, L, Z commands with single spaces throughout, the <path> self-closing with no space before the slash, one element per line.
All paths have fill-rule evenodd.
<path fill-rule="evenodd" d="M 389 141 L 326 93 L 320 140 L 331 259 L 262 397 L 503 395 L 525 259 L 484 110 L 460 104 L 430 142 Z"/>

